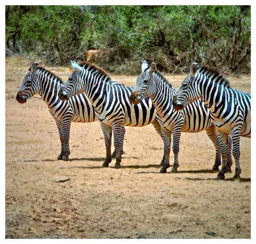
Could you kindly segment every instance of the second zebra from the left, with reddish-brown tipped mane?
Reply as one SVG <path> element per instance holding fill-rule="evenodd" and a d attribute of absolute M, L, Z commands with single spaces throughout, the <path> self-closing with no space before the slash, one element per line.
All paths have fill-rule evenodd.
<path fill-rule="evenodd" d="M 114 146 L 116 148 L 115 168 L 121 168 L 121 128 L 122 126 L 146 126 L 153 123 L 157 133 L 162 137 L 161 128 L 156 118 L 156 109 L 147 99 L 138 105 L 129 101 L 133 87 L 113 86 L 108 83 L 111 80 L 105 70 L 91 63 L 80 65 L 71 61 L 73 73 L 61 87 L 58 96 L 61 100 L 84 92 L 95 108 L 95 114 L 106 130 L 113 129 Z M 164 157 L 161 164 L 164 162 Z M 108 162 L 102 164 L 108 167 Z"/>

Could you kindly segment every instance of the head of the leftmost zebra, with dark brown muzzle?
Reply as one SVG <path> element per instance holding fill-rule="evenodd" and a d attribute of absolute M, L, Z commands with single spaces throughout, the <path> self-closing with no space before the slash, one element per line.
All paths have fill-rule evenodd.
<path fill-rule="evenodd" d="M 27 99 L 38 92 L 38 63 L 33 63 L 17 92 L 16 100 L 19 103 L 26 103 Z"/>

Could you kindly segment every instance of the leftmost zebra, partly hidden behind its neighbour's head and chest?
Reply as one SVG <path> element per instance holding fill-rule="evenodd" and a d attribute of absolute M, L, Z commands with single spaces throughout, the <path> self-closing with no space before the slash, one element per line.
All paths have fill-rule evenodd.
<path fill-rule="evenodd" d="M 110 81 L 112 85 L 122 85 L 116 81 Z M 16 99 L 19 103 L 26 103 L 28 98 L 39 94 L 48 105 L 49 112 L 55 119 L 61 141 L 61 153 L 57 160 L 68 160 L 70 155 L 69 138 L 71 122 L 91 123 L 97 121 L 95 110 L 84 93 L 70 98 L 69 101 L 61 101 L 58 98 L 58 90 L 63 85 L 63 81 L 52 72 L 33 63 L 28 74 L 23 79 Z M 103 133 L 104 128 L 102 128 Z M 109 131 L 111 134 L 111 130 Z M 122 141 L 124 139 L 125 128 L 122 126 Z M 111 146 L 111 138 L 108 142 Z M 123 144 L 122 144 L 123 145 Z M 121 149 L 123 153 L 123 149 Z M 116 151 L 112 157 L 115 157 Z M 108 158 L 111 161 L 111 157 Z"/>

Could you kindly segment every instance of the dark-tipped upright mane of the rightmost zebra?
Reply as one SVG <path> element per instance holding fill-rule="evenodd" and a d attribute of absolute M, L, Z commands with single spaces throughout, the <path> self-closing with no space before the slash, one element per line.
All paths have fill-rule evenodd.
<path fill-rule="evenodd" d="M 205 75 L 207 76 L 208 78 L 211 76 L 211 75 L 214 75 L 212 77 L 212 81 L 215 82 L 215 83 L 219 83 L 221 86 L 224 86 L 225 88 L 231 88 L 230 86 L 230 82 L 228 80 L 226 80 L 222 75 L 221 73 L 219 72 L 218 69 L 215 69 L 215 68 L 212 68 L 212 67 L 209 67 L 209 66 L 203 66 L 203 67 L 200 67 L 198 69 L 198 72 L 200 72 L 202 75 Z"/>

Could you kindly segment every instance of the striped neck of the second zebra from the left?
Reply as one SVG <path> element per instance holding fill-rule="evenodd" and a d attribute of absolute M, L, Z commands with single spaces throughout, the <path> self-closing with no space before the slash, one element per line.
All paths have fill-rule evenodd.
<path fill-rule="evenodd" d="M 105 79 L 102 80 L 100 76 L 92 75 L 89 72 L 84 77 L 84 93 L 99 113 L 102 113 L 103 105 L 112 93 L 111 85 Z"/>

